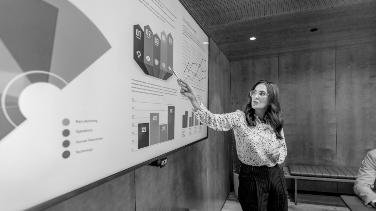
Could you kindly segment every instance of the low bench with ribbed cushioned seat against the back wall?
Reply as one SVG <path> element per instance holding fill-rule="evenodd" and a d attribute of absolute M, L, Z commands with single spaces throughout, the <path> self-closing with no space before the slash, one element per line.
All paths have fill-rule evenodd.
<path fill-rule="evenodd" d="M 291 179 L 294 201 L 298 203 L 298 179 L 355 183 L 358 169 L 350 167 L 289 165 L 283 167 L 285 178 Z"/>

